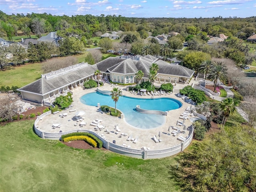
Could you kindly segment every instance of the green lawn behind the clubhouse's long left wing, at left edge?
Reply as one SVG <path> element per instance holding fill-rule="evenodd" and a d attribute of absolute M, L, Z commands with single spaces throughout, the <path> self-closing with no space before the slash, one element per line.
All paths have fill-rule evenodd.
<path fill-rule="evenodd" d="M 25 86 L 41 77 L 41 63 L 29 63 L 0 71 L 0 86 Z"/>

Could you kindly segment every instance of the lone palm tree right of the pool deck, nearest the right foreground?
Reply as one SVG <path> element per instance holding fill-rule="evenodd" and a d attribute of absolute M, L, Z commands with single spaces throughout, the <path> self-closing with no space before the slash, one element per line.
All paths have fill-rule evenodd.
<path fill-rule="evenodd" d="M 234 101 L 234 99 L 231 98 L 231 97 L 226 98 L 221 102 L 220 108 L 223 112 L 223 119 L 222 119 L 221 125 L 224 122 L 222 127 L 224 127 L 224 125 L 226 123 L 226 120 L 229 117 L 229 115 L 233 114 L 236 111 L 236 106 L 238 106 L 238 102 Z"/>

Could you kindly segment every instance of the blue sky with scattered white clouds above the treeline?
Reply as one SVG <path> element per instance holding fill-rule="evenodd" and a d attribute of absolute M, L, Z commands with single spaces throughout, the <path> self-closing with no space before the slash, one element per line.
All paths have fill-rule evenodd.
<path fill-rule="evenodd" d="M 250 17 L 256 0 L 0 0 L 6 14 L 122 15 L 125 17 Z"/>

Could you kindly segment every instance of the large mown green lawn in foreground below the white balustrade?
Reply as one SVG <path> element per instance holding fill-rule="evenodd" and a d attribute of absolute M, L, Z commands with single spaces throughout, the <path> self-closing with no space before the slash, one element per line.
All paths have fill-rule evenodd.
<path fill-rule="evenodd" d="M 142 160 L 110 151 L 69 148 L 36 136 L 33 123 L 26 120 L 1 127 L 1 192 L 180 191 L 169 178 L 174 157 Z"/>

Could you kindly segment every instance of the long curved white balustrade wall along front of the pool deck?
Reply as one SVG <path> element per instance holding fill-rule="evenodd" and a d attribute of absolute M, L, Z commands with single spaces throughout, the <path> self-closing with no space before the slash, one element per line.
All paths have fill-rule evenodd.
<path fill-rule="evenodd" d="M 163 157 L 172 156 L 174 154 L 177 154 L 183 151 L 186 147 L 188 147 L 188 145 L 190 144 L 193 138 L 194 129 L 192 128 L 190 129 L 189 137 L 184 142 L 181 142 L 180 144 L 176 146 L 172 146 L 170 148 L 160 149 L 160 150 L 140 150 L 140 149 L 127 148 L 124 146 L 119 146 L 112 142 L 108 142 L 107 140 L 103 139 L 101 136 L 99 136 L 97 133 L 91 130 L 76 129 L 76 130 L 69 130 L 61 133 L 43 132 L 42 130 L 40 130 L 40 128 L 38 128 L 37 124 L 40 120 L 42 120 L 42 118 L 44 118 L 45 116 L 51 113 L 52 113 L 51 111 L 48 111 L 40 115 L 34 122 L 35 132 L 41 138 L 60 140 L 62 135 L 75 133 L 75 132 L 88 132 L 90 134 L 93 134 L 97 138 L 99 138 L 103 142 L 103 147 L 107 148 L 108 150 L 119 153 L 119 154 L 124 154 L 126 156 L 136 157 L 136 158 L 152 159 L 152 158 L 163 158 Z"/>

